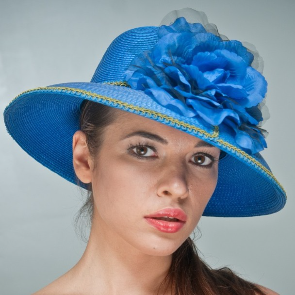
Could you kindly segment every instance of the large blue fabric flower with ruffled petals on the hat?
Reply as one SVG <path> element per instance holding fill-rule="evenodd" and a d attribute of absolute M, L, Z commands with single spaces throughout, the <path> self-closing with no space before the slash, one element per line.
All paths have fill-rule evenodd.
<path fill-rule="evenodd" d="M 248 153 L 266 148 L 257 125 L 267 82 L 251 67 L 252 53 L 183 17 L 159 27 L 158 36 L 153 49 L 132 60 L 126 82 L 178 114 L 224 126 Z"/>

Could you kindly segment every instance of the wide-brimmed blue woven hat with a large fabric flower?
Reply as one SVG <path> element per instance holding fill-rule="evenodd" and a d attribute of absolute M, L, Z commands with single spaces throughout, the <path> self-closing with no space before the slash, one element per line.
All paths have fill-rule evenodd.
<path fill-rule="evenodd" d="M 213 24 L 179 17 L 119 35 L 91 82 L 22 92 L 4 121 L 29 155 L 76 184 L 72 138 L 84 100 L 156 120 L 226 152 L 203 215 L 271 214 L 284 207 L 286 193 L 260 155 L 267 147 L 261 128 L 267 83 L 254 65 L 251 50 Z"/>

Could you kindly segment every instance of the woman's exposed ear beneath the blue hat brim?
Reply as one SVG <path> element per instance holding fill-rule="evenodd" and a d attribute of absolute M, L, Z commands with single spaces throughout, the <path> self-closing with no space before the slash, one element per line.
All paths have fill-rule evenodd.
<path fill-rule="evenodd" d="M 90 183 L 93 160 L 87 146 L 86 135 L 81 130 L 76 131 L 73 135 L 73 165 L 80 181 Z"/>

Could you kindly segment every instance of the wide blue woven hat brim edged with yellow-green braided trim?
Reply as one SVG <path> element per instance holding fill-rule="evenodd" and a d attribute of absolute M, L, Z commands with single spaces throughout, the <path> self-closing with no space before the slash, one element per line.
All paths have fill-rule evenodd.
<path fill-rule="evenodd" d="M 284 207 L 286 193 L 259 153 L 248 155 L 222 130 L 197 118 L 182 117 L 159 105 L 143 91 L 91 82 L 28 90 L 6 107 L 7 131 L 38 162 L 77 184 L 72 138 L 79 130 L 80 107 L 84 99 L 148 117 L 224 150 L 227 155 L 219 161 L 217 186 L 204 216 L 257 216 Z"/>

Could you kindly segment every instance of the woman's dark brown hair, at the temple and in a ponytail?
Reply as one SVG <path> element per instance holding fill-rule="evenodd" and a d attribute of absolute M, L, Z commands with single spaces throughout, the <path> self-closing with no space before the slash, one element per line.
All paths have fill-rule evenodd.
<path fill-rule="evenodd" d="M 92 101 L 84 101 L 81 106 L 80 129 L 86 134 L 92 157 L 99 152 L 105 128 L 116 118 L 114 112 L 114 108 Z M 92 222 L 94 201 L 91 184 L 87 189 L 87 199 L 78 212 L 76 224 L 81 216 L 89 217 L 89 224 Z M 212 269 L 208 266 L 199 257 L 190 237 L 173 253 L 169 271 L 158 290 L 158 294 L 160 291 L 163 294 L 171 291 L 173 295 L 266 295 L 258 286 L 240 278 L 230 268 Z"/>

